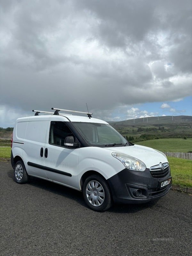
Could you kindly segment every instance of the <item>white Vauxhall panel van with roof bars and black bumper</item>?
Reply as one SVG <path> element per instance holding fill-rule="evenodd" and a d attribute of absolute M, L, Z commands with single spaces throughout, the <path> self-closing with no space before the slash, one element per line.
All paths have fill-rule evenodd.
<path fill-rule="evenodd" d="M 92 113 L 74 116 L 52 109 L 16 120 L 11 152 L 16 182 L 33 176 L 80 190 L 95 211 L 113 202 L 145 203 L 169 191 L 172 178 L 164 153 L 128 142 Z"/>

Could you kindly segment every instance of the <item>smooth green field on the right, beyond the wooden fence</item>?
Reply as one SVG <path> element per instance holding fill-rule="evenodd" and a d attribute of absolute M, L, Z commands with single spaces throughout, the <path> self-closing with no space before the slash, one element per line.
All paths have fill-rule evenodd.
<path fill-rule="evenodd" d="M 162 152 L 188 152 L 192 151 L 192 138 L 183 139 L 159 139 L 135 142 L 134 144 L 157 149 Z"/>

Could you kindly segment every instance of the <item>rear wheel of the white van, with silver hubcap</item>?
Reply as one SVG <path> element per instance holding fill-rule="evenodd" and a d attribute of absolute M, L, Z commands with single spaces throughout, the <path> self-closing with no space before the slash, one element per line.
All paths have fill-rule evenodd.
<path fill-rule="evenodd" d="M 26 172 L 25 165 L 22 161 L 18 161 L 14 167 L 15 181 L 19 184 L 25 184 L 29 181 L 29 176 Z"/>

